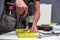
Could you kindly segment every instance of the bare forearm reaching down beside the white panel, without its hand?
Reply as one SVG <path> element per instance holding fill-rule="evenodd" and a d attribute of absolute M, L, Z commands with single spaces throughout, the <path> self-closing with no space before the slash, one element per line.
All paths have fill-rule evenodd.
<path fill-rule="evenodd" d="M 37 1 L 37 2 L 35 3 L 33 26 L 36 26 L 39 18 L 40 18 L 40 2 Z"/>

